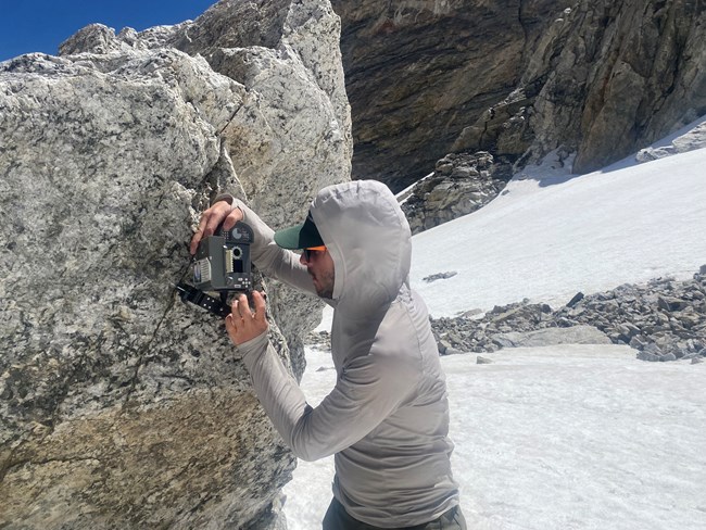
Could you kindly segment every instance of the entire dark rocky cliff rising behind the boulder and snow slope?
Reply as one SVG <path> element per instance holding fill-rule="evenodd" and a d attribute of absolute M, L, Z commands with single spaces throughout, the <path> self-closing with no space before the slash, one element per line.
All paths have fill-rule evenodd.
<path fill-rule="evenodd" d="M 706 113 L 688 0 L 344 2 L 353 176 L 402 189 L 450 152 L 588 172 Z"/>

